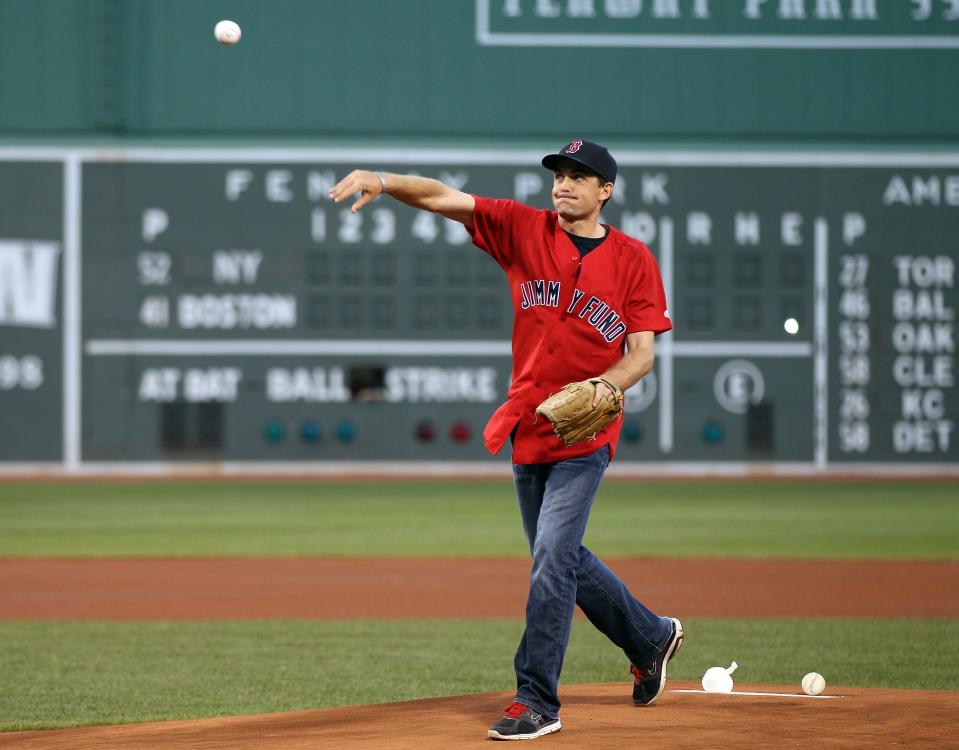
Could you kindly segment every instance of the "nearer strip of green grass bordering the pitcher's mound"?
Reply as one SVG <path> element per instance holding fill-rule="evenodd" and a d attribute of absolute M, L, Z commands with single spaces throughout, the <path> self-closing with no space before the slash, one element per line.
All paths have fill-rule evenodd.
<path fill-rule="evenodd" d="M 675 679 L 739 663 L 738 683 L 959 689 L 948 620 L 691 620 Z M 509 691 L 513 620 L 0 623 L 0 730 L 245 715 Z M 935 644 L 935 647 L 931 647 Z M 578 620 L 564 684 L 623 682 Z M 638 709 L 637 709 L 638 710 Z"/>

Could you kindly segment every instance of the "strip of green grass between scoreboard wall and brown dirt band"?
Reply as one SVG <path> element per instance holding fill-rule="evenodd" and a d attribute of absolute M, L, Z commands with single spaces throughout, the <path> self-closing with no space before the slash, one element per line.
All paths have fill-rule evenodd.
<path fill-rule="evenodd" d="M 959 558 L 959 483 L 607 481 L 608 556 Z M 0 556 L 527 554 L 508 480 L 0 483 Z"/>

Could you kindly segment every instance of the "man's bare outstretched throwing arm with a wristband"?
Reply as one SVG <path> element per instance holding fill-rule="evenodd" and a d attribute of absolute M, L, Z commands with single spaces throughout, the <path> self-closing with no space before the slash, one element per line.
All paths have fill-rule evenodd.
<path fill-rule="evenodd" d="M 360 197 L 351 207 L 356 213 L 384 192 L 407 206 L 440 214 L 460 222 L 467 229 L 473 228 L 473 209 L 476 206 L 473 196 L 429 177 L 357 169 L 330 190 L 330 198 L 339 203 L 359 193 Z"/>

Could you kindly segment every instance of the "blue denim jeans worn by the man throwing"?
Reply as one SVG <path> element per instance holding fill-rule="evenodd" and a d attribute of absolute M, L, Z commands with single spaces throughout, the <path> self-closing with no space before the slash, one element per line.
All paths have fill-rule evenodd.
<path fill-rule="evenodd" d="M 516 700 L 555 718 L 573 605 L 623 649 L 633 664 L 652 661 L 669 638 L 670 620 L 637 601 L 582 545 L 589 511 L 609 464 L 609 446 L 548 464 L 515 464 L 513 483 L 533 556 L 526 630 L 516 650 Z"/>

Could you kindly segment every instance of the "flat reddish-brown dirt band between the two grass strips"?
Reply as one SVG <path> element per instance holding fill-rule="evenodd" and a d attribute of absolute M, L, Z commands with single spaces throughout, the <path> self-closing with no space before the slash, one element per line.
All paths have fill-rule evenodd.
<path fill-rule="evenodd" d="M 959 618 L 959 562 L 610 559 L 680 617 Z M 517 617 L 529 561 L 0 560 L 0 620 Z"/>

